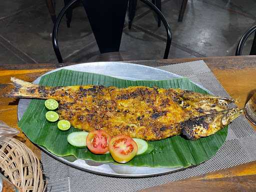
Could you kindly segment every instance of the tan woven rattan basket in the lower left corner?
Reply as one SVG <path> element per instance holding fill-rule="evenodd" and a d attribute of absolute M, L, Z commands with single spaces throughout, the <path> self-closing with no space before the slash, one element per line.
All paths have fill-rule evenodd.
<path fill-rule="evenodd" d="M 0 138 L 0 167 L 9 180 L 22 191 L 43 191 L 39 159 L 22 142 L 12 137 Z"/>

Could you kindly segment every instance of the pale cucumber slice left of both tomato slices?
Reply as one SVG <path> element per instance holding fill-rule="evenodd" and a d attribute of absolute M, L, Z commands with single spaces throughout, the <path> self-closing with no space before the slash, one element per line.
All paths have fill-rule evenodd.
<path fill-rule="evenodd" d="M 87 135 L 88 132 L 85 131 L 71 132 L 70 134 L 67 135 L 67 142 L 76 147 L 86 147 Z"/>

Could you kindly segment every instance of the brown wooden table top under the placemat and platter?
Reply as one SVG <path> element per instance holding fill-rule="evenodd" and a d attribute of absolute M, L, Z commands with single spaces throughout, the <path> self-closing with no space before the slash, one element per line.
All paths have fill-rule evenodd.
<path fill-rule="evenodd" d="M 256 56 L 225 56 L 204 58 L 180 58 L 129 61 L 148 66 L 162 66 L 203 59 L 227 92 L 243 107 L 246 100 L 256 92 Z M 70 65 L 74 63 L 64 63 Z M 0 64 L 0 95 L 6 91 L 10 76 L 32 81 L 39 75 L 60 67 L 59 63 L 46 64 Z M 0 97 L 0 120 L 17 126 L 17 100 Z M 253 125 L 256 130 L 256 126 Z M 22 133 L 19 134 L 25 138 Z M 40 151 L 28 139 L 25 144 L 40 157 Z M 256 161 L 222 169 L 212 173 L 144 189 L 143 191 L 256 191 Z"/>

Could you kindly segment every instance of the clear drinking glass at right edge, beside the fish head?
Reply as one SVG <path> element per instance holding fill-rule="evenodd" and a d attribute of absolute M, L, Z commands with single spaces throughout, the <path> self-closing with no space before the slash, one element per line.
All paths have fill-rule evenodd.
<path fill-rule="evenodd" d="M 248 100 L 244 106 L 246 117 L 256 125 L 256 93 Z"/>

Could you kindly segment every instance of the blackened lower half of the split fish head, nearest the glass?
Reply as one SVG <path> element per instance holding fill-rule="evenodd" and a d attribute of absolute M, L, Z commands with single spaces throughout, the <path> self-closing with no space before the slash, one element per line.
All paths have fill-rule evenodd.
<path fill-rule="evenodd" d="M 181 135 L 189 140 L 214 134 L 242 113 L 243 109 L 231 108 L 194 118 L 180 123 Z"/>

